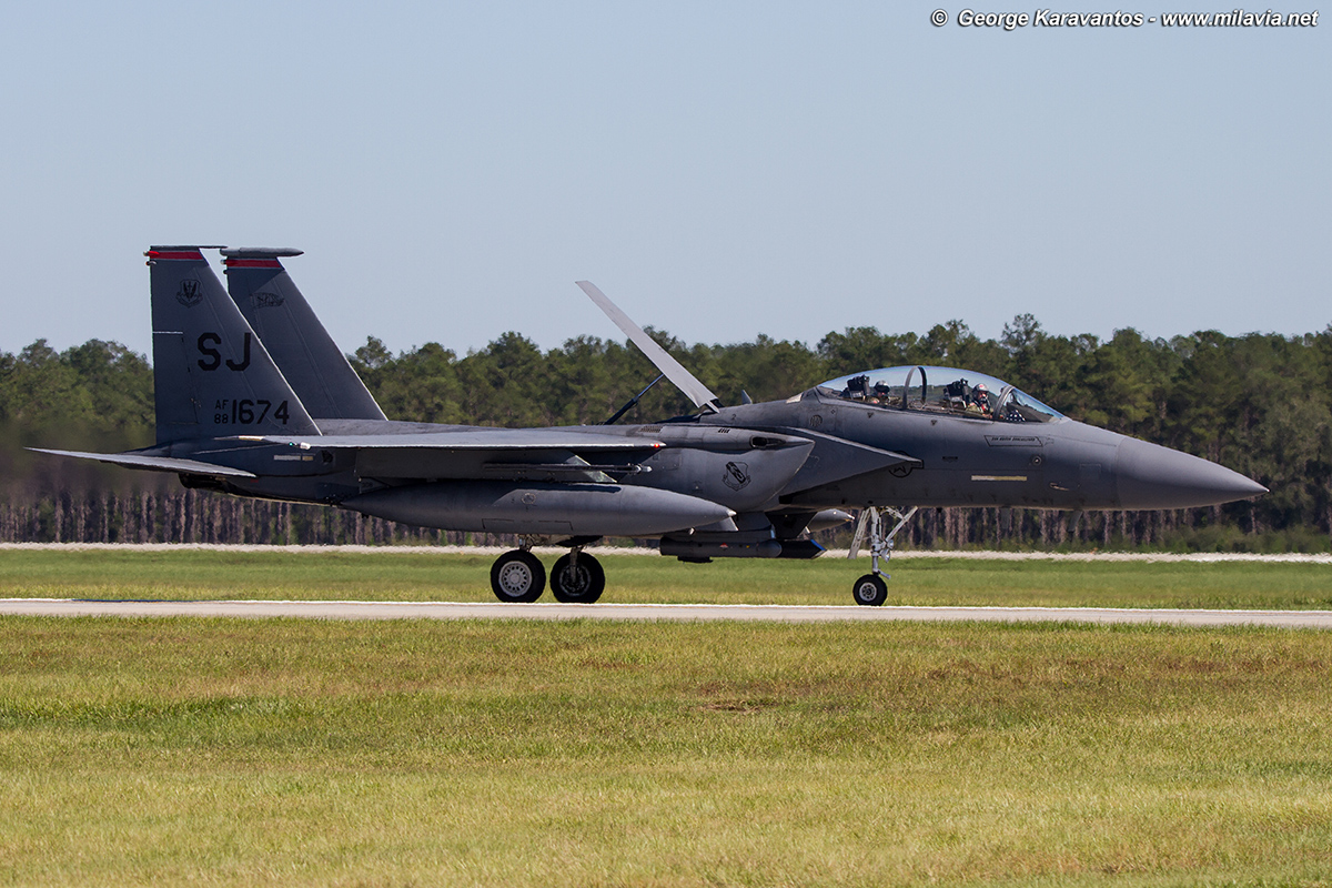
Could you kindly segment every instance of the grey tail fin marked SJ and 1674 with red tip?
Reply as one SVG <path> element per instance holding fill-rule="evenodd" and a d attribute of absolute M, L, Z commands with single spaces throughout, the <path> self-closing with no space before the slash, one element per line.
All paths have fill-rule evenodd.
<path fill-rule="evenodd" d="M 157 443 L 226 435 L 320 434 L 200 250 L 153 246 Z M 345 359 L 344 359 L 345 362 Z"/>

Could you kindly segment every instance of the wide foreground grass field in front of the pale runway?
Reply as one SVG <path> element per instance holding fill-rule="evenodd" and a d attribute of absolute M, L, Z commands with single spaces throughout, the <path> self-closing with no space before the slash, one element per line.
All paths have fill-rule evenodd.
<path fill-rule="evenodd" d="M 1299 631 L 0 618 L 0 881 L 1327 885 L 1329 687 Z"/>

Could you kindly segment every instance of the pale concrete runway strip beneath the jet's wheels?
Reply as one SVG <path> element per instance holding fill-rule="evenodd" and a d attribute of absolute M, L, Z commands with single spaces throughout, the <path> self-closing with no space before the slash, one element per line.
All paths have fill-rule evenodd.
<path fill-rule="evenodd" d="M 1332 611 L 1207 611 L 1115 607 L 856 607 L 826 604 L 502 604 L 500 602 L 168 602 L 0 599 L 0 615 L 23 616 L 232 616 L 245 619 L 605 619 L 775 623 L 963 622 L 1164 626 L 1265 626 L 1332 630 Z"/>

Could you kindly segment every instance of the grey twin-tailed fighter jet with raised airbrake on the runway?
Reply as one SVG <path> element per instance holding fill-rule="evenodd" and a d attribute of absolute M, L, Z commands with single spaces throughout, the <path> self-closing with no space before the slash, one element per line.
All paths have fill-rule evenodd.
<path fill-rule="evenodd" d="M 201 250 L 221 249 L 224 290 Z M 851 521 L 882 604 L 879 558 L 919 507 L 1185 509 L 1267 491 L 1223 466 L 1070 419 L 982 373 L 863 370 L 786 401 L 723 407 L 595 286 L 579 286 L 698 407 L 651 425 L 494 429 L 385 418 L 281 258 L 289 249 L 153 246 L 157 443 L 44 450 L 170 471 L 186 487 L 350 509 L 441 530 L 513 534 L 490 584 L 534 602 L 539 541 L 561 602 L 606 580 L 583 547 L 657 538 L 663 555 L 814 558 L 811 531 Z M 633 402 L 631 402 L 633 403 Z M 618 414 L 617 417 L 618 418 Z M 611 421 L 613 422 L 613 421 Z M 886 511 L 896 518 L 886 531 Z"/>

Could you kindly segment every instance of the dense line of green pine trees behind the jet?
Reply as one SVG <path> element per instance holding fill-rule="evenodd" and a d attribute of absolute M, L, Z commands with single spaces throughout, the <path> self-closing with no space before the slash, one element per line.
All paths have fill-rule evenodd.
<path fill-rule="evenodd" d="M 908 545 L 1329 549 L 1332 328 L 1299 337 L 1200 332 L 1172 339 L 1119 330 L 1102 341 L 1051 335 L 1019 316 L 995 339 L 960 321 L 924 335 L 847 329 L 814 347 L 767 337 L 690 346 L 653 335 L 725 403 L 739 402 L 742 391 L 755 401 L 785 398 L 854 370 L 959 366 L 1007 379 L 1074 418 L 1221 462 L 1272 490 L 1255 502 L 1177 513 L 931 511 L 912 525 Z M 434 343 L 393 354 L 372 337 L 349 357 L 390 418 L 425 422 L 602 422 L 657 375 L 633 346 L 593 337 L 543 353 L 507 333 L 466 355 Z M 621 422 L 690 409 L 662 381 Z M 152 443 L 152 369 L 143 355 L 101 341 L 65 351 L 39 341 L 0 353 L 0 542 L 484 542 L 318 507 L 185 491 L 169 475 L 23 450 L 121 450 Z M 836 543 L 834 537 L 826 542 Z"/>

